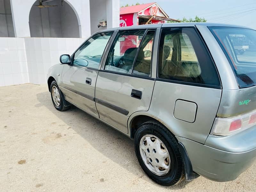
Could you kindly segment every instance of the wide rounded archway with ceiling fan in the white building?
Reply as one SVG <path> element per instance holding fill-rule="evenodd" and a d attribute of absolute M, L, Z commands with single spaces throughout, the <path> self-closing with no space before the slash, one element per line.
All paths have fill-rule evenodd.
<path fill-rule="evenodd" d="M 30 9 L 29 30 L 31 37 L 80 37 L 76 13 L 64 0 L 37 0 Z"/>

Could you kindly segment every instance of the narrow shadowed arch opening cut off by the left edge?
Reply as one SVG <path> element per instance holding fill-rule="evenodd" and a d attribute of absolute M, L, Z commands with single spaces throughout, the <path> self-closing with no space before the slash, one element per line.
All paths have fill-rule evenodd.
<path fill-rule="evenodd" d="M 0 0 L 0 37 L 14 37 L 10 0 Z"/>

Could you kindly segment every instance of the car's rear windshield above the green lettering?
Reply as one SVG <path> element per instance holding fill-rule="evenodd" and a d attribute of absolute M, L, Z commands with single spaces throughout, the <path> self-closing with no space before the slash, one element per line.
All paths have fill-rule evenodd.
<path fill-rule="evenodd" d="M 256 84 L 256 31 L 246 28 L 211 27 L 225 52 L 240 88 Z"/>

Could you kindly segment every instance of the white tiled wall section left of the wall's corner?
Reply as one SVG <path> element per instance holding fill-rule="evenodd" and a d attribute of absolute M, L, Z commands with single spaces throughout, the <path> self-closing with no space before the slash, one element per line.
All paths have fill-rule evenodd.
<path fill-rule="evenodd" d="M 28 83 L 24 38 L 0 37 L 0 86 Z"/>

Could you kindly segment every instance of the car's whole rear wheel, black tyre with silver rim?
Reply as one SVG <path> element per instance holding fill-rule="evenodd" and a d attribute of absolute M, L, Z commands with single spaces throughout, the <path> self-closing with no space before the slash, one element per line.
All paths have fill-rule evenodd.
<path fill-rule="evenodd" d="M 134 137 L 135 153 L 149 178 L 172 186 L 184 178 L 184 165 L 177 140 L 158 122 L 141 124 Z"/>

